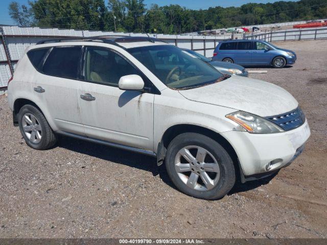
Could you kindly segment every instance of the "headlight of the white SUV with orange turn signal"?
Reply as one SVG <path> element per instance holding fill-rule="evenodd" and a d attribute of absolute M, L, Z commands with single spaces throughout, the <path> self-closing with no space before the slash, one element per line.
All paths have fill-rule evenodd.
<path fill-rule="evenodd" d="M 236 128 L 238 131 L 246 130 L 253 134 L 271 134 L 284 132 L 282 128 L 279 128 L 273 122 L 247 112 L 237 111 L 226 115 L 226 117 L 238 124 Z"/>

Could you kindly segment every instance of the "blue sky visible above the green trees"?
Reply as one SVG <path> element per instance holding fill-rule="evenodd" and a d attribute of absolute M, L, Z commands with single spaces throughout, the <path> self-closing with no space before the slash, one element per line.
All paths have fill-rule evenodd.
<path fill-rule="evenodd" d="M 9 3 L 13 0 L 0 0 L 0 24 L 15 24 L 15 22 L 10 18 L 8 14 L 8 6 Z M 15 0 L 19 4 L 27 5 L 28 0 Z M 290 0 L 287 0 L 290 1 Z M 296 0 L 291 0 L 296 1 Z M 107 3 L 107 0 L 105 0 Z M 188 9 L 207 9 L 209 7 L 230 7 L 230 6 L 241 6 L 247 3 L 273 3 L 276 2 L 274 0 L 145 0 L 144 3 L 147 7 L 150 7 L 151 4 L 157 4 L 159 6 L 170 5 L 170 4 L 179 4 L 182 7 L 186 7 Z"/>

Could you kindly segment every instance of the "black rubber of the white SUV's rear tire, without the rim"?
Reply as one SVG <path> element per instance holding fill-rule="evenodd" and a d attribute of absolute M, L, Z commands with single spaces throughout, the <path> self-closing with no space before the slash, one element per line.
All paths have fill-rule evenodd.
<path fill-rule="evenodd" d="M 25 120 L 23 119 L 23 116 L 26 114 L 33 115 L 36 118 L 38 125 L 40 126 L 41 139 L 37 143 L 32 142 L 23 129 L 23 124 L 24 124 L 23 120 Z M 26 143 L 31 148 L 37 150 L 46 150 L 52 148 L 52 146 L 54 146 L 57 142 L 57 137 L 52 131 L 51 127 L 49 126 L 48 121 L 46 121 L 42 112 L 40 112 L 40 110 L 37 109 L 35 106 L 25 105 L 20 108 L 18 113 L 18 124 L 22 137 L 24 137 Z"/>

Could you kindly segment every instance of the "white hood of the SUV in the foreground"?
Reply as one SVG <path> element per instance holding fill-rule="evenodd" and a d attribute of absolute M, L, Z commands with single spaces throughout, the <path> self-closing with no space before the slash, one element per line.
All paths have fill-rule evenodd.
<path fill-rule="evenodd" d="M 231 76 L 219 83 L 179 90 L 186 99 L 224 106 L 259 116 L 283 114 L 298 106 L 285 89 L 261 80 Z"/>

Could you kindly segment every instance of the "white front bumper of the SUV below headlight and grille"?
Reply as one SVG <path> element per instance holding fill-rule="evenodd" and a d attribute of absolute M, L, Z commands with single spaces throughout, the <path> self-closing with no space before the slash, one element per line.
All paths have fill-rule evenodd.
<path fill-rule="evenodd" d="M 289 165 L 303 151 L 310 136 L 308 121 L 290 131 L 275 134 L 250 134 L 243 131 L 221 133 L 238 155 L 245 177 L 269 174 Z M 267 169 L 267 164 L 272 162 Z"/>

